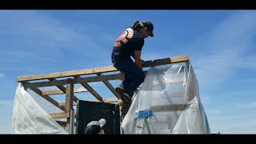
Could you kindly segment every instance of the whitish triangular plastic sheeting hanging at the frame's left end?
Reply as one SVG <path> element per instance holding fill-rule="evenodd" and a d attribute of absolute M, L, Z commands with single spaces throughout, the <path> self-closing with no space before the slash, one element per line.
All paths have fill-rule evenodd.
<path fill-rule="evenodd" d="M 18 83 L 14 98 L 14 134 L 68 134 Z"/>

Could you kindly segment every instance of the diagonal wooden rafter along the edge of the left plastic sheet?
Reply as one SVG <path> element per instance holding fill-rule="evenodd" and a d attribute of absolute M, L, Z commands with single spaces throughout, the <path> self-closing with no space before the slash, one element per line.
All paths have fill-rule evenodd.
<path fill-rule="evenodd" d="M 23 85 L 26 85 L 26 87 L 30 88 L 30 90 L 33 90 L 36 94 L 38 94 L 42 98 L 45 98 L 48 102 L 52 103 L 54 106 L 57 106 L 59 109 L 64 111 L 64 109 L 61 106 L 58 106 L 58 102 L 55 101 L 54 98 L 50 98 L 49 95 L 42 96 L 42 91 L 36 87 L 30 86 L 30 82 L 22 82 L 22 83 Z"/>

